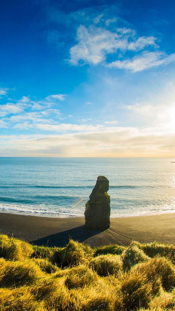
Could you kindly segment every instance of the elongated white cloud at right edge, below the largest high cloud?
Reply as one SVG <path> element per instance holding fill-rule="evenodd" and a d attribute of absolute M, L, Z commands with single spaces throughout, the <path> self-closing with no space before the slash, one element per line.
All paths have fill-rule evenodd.
<path fill-rule="evenodd" d="M 139 55 L 134 56 L 131 59 L 117 60 L 110 64 L 110 68 L 127 69 L 131 72 L 139 72 L 151 67 L 157 67 L 160 65 L 168 65 L 175 62 L 175 53 L 167 55 L 163 52 L 149 52 L 145 51 Z"/>

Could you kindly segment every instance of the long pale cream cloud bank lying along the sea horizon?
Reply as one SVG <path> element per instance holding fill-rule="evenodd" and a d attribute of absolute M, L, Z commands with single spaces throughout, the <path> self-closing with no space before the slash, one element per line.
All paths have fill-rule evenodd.
<path fill-rule="evenodd" d="M 1 156 L 173 156 L 175 131 L 117 127 L 62 135 L 0 136 Z"/>

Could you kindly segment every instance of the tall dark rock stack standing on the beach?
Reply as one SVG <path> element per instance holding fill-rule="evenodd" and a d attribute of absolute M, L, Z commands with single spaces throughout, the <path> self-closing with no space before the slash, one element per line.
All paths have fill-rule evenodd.
<path fill-rule="evenodd" d="M 85 204 L 85 228 L 105 230 L 110 227 L 109 181 L 105 176 L 97 178 L 96 185 Z"/>

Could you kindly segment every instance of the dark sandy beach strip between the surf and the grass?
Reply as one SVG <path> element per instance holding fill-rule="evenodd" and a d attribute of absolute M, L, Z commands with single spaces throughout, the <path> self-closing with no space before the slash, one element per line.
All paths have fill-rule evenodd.
<path fill-rule="evenodd" d="M 64 246 L 69 238 L 91 247 L 128 245 L 132 240 L 175 245 L 175 213 L 111 218 L 111 226 L 105 231 L 86 230 L 84 223 L 83 217 L 50 218 L 0 213 L 0 234 L 48 246 Z"/>

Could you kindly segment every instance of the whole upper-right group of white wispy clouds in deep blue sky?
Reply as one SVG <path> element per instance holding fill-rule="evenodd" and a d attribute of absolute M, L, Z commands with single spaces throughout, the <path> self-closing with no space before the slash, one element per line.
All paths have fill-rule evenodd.
<path fill-rule="evenodd" d="M 109 68 L 125 69 L 130 72 L 139 72 L 152 67 L 168 65 L 175 62 L 175 53 L 168 54 L 159 50 L 154 36 L 136 35 L 136 31 L 131 28 L 114 28 L 113 31 L 108 26 L 117 22 L 117 17 L 103 18 L 103 25 L 97 24 L 103 14 L 94 19 L 96 25 L 89 27 L 80 25 L 77 28 L 77 44 L 70 49 L 71 65 L 101 63 Z M 125 57 L 127 51 L 132 51 L 135 55 L 132 58 Z M 109 54 L 114 54 L 115 59 L 110 62 Z"/>

